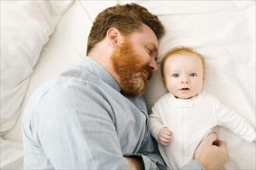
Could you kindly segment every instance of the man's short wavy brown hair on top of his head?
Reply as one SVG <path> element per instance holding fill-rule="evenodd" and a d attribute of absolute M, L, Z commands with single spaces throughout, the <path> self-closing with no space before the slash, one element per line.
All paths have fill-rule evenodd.
<path fill-rule="evenodd" d="M 164 26 L 161 24 L 160 19 L 143 6 L 131 3 L 106 8 L 97 15 L 93 23 L 88 36 L 87 54 L 95 44 L 104 39 L 110 28 L 114 27 L 124 35 L 129 35 L 131 32 L 139 30 L 143 23 L 153 30 L 158 40 L 164 36 Z"/>

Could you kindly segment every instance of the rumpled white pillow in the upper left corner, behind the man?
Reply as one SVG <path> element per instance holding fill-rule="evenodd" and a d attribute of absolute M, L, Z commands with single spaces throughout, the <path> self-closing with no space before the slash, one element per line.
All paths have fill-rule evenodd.
<path fill-rule="evenodd" d="M 1 124 L 16 124 L 40 51 L 73 1 L 1 1 Z"/>

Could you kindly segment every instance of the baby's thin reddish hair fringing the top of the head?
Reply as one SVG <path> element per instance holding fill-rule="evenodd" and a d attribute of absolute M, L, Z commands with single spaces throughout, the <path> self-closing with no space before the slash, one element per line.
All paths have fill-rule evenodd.
<path fill-rule="evenodd" d="M 205 65 L 206 65 L 206 62 L 205 62 L 205 58 L 204 56 L 202 56 L 202 54 L 200 53 L 197 53 L 194 49 L 192 48 L 189 48 L 189 47 L 186 47 L 186 46 L 178 46 L 178 47 L 175 47 L 171 50 L 169 50 L 167 53 L 164 54 L 163 56 L 163 59 L 161 61 L 161 76 L 164 78 L 164 63 L 166 62 L 166 60 L 173 56 L 174 54 L 177 54 L 177 53 L 193 53 L 195 54 L 196 56 L 199 56 L 199 58 L 201 59 L 202 61 L 202 69 L 203 69 L 203 75 L 205 74 Z"/>

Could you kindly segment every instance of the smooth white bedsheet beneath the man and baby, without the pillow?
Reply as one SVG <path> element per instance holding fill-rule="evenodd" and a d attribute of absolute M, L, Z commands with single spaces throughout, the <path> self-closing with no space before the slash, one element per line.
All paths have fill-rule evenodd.
<path fill-rule="evenodd" d="M 206 56 L 205 90 L 237 110 L 255 128 L 254 1 L 74 1 L 62 15 L 33 67 L 26 95 L 22 96 L 24 99 L 19 105 L 19 120 L 2 138 L 19 142 L 17 145 L 20 146 L 22 110 L 30 95 L 45 80 L 81 62 L 85 57 L 93 19 L 102 9 L 118 2 L 144 5 L 163 22 L 167 32 L 160 42 L 157 63 L 161 62 L 161 56 L 168 49 L 175 46 L 191 46 Z M 149 111 L 164 93 L 166 90 L 157 72 L 144 94 Z M 229 159 L 226 169 L 256 168 L 254 143 L 248 144 L 224 128 L 216 128 L 216 131 L 220 139 L 227 143 Z M 16 163 L 20 166 L 22 148 L 16 146 L 10 148 L 11 155 L 12 158 L 17 157 Z M 5 168 L 15 167 L 13 160 L 8 162 L 11 155 L 1 153 L 1 162 L 7 162 Z"/>

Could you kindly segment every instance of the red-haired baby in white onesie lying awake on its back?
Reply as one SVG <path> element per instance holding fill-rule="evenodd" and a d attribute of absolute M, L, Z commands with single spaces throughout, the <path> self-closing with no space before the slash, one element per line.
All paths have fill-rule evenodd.
<path fill-rule="evenodd" d="M 161 144 L 159 151 L 168 169 L 192 161 L 195 148 L 216 125 L 245 141 L 256 141 L 254 128 L 240 114 L 202 90 L 205 59 L 201 54 L 184 46 L 171 49 L 161 61 L 161 76 L 169 93 L 152 107 L 150 133 Z"/>

